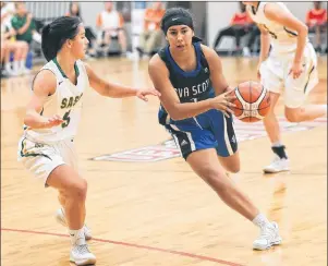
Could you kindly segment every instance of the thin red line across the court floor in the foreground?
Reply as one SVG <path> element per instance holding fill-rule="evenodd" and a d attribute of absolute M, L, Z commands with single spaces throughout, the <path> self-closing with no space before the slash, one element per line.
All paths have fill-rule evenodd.
<path fill-rule="evenodd" d="M 68 234 L 63 234 L 63 233 L 50 233 L 50 232 L 41 232 L 41 231 L 33 231 L 33 230 L 1 228 L 1 231 L 35 233 L 35 234 L 46 234 L 46 235 L 69 238 Z M 148 250 L 148 251 L 159 251 L 159 252 L 163 252 L 163 253 L 170 253 L 170 254 L 175 254 L 175 255 L 180 255 L 180 256 L 193 257 L 193 258 L 197 258 L 197 259 L 202 259 L 202 261 L 214 262 L 214 263 L 218 263 L 218 264 L 221 264 L 221 265 L 245 266 L 245 265 L 242 265 L 242 264 L 231 263 L 231 262 L 227 262 L 227 261 L 223 261 L 223 259 L 218 259 L 218 258 L 215 258 L 215 257 L 196 255 L 196 254 L 192 254 L 192 253 L 187 253 L 187 252 L 172 251 L 172 250 L 166 250 L 166 249 L 154 247 L 154 246 L 148 246 L 148 245 L 132 244 L 132 243 L 126 243 L 126 242 L 121 242 L 121 241 L 112 241 L 112 240 L 106 240 L 106 239 L 94 239 L 93 238 L 92 240 L 96 241 L 96 242 L 111 243 L 111 244 L 116 244 L 116 245 L 124 245 L 124 246 L 137 247 L 137 249 L 143 249 L 143 250 Z"/>

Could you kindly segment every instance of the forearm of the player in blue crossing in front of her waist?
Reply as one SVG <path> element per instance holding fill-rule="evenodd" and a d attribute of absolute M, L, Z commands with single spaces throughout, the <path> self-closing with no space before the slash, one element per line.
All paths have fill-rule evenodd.
<path fill-rule="evenodd" d="M 211 100 L 212 99 L 206 99 L 197 102 L 179 102 L 170 108 L 171 110 L 169 111 L 169 114 L 173 120 L 192 118 L 212 109 Z"/>

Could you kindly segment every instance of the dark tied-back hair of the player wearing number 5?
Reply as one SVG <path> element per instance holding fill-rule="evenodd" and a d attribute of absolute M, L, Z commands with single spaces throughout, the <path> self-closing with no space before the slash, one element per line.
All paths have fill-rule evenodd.
<path fill-rule="evenodd" d="M 80 25 L 77 16 L 60 16 L 42 28 L 41 48 L 47 61 L 56 58 L 63 44 L 77 35 Z"/>

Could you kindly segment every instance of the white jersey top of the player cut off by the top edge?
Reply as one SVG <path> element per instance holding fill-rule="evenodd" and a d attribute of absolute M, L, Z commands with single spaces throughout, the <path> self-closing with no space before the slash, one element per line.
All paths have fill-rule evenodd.
<path fill-rule="evenodd" d="M 268 2 L 259 2 L 257 9 L 247 5 L 246 10 L 251 16 L 251 19 L 257 23 L 259 26 L 264 27 L 271 37 L 271 46 L 272 46 L 272 53 L 275 55 L 283 55 L 288 52 L 296 51 L 297 47 L 297 33 L 293 32 L 292 29 L 277 23 L 270 21 L 265 15 L 265 5 Z M 282 9 L 290 13 L 288 8 L 282 2 L 275 2 L 279 4 Z M 308 39 L 306 40 L 308 43 Z"/>

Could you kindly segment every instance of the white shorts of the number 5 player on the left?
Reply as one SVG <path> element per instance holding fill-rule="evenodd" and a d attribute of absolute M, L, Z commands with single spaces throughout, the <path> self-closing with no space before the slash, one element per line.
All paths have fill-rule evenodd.
<path fill-rule="evenodd" d="M 17 159 L 36 178 L 47 185 L 49 174 L 61 165 L 77 169 L 77 155 L 73 140 L 64 140 L 53 144 L 37 143 L 24 135 L 19 142 Z"/>

